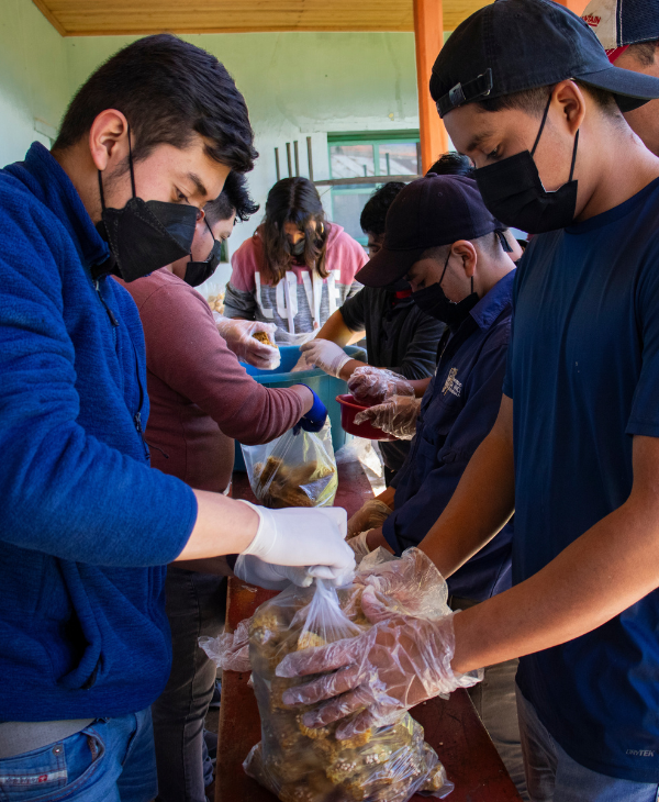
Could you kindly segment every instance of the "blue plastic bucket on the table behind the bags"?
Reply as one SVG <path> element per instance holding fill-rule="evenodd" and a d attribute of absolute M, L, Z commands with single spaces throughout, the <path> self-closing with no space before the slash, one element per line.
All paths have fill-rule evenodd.
<path fill-rule="evenodd" d="M 336 453 L 346 443 L 347 438 L 351 439 L 353 437 L 353 435 L 346 434 L 342 428 L 340 404 L 336 400 L 337 396 L 347 392 L 346 382 L 342 379 L 334 378 L 334 376 L 327 376 L 324 370 L 320 370 L 319 368 L 291 374 L 291 370 L 298 364 L 298 359 L 300 359 L 300 346 L 282 345 L 279 350 L 281 353 L 281 365 L 277 368 L 277 372 L 272 370 L 260 370 L 259 368 L 253 368 L 252 365 L 245 364 L 243 364 L 243 367 L 249 376 L 254 377 L 255 381 L 264 385 L 264 387 L 292 387 L 293 385 L 306 385 L 310 387 L 327 408 L 330 421 L 332 422 L 332 445 Z M 359 348 L 356 345 L 347 345 L 344 350 L 355 359 L 366 361 L 364 348 Z M 234 470 L 245 470 L 243 449 L 237 441 Z"/>

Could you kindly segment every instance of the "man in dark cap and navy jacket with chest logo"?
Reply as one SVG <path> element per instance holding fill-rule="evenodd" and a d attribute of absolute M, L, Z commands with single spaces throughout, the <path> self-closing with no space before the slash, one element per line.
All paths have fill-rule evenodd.
<path fill-rule="evenodd" d="M 415 303 L 446 323 L 447 330 L 422 399 L 393 396 L 362 413 L 376 426 L 414 439 L 391 487 L 365 505 L 367 514 L 369 504 L 371 510 L 378 504 L 382 514 L 384 505 L 392 512 L 381 527 L 351 541 L 360 544 L 358 553 L 384 546 L 401 555 L 418 546 L 496 420 L 513 312 L 511 256 L 521 254 L 516 243 L 512 250 L 503 229 L 485 209 L 471 178 L 426 176 L 407 185 L 393 201 L 384 245 L 359 272 L 367 287 L 405 277 Z M 357 513 L 349 527 L 361 528 L 360 520 L 367 516 Z M 455 610 L 511 587 L 512 537 L 509 522 L 450 577 Z M 489 667 L 485 680 L 470 692 L 509 772 L 525 793 L 516 667 L 516 660 Z"/>

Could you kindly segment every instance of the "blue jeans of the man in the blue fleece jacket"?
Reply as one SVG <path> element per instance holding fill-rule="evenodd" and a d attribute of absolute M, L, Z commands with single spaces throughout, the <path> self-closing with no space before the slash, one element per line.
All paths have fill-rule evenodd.
<path fill-rule="evenodd" d="M 150 802 L 156 792 L 148 710 L 98 719 L 64 740 L 0 760 L 2 802 Z"/>

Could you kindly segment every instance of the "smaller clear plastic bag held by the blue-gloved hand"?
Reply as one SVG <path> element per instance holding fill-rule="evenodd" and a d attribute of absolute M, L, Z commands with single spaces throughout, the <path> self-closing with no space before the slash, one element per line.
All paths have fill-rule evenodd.
<path fill-rule="evenodd" d="M 320 432 L 293 430 L 271 443 L 243 446 L 252 491 L 265 506 L 332 506 L 338 478 L 330 419 Z"/>

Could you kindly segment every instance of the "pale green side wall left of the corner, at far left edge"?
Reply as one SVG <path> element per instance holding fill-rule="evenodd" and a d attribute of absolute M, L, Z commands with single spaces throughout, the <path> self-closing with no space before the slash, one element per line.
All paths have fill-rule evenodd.
<path fill-rule="evenodd" d="M 21 159 L 34 140 L 49 144 L 70 96 L 66 56 L 31 0 L 0 0 L 0 165 Z"/>

